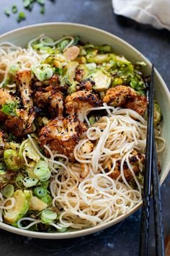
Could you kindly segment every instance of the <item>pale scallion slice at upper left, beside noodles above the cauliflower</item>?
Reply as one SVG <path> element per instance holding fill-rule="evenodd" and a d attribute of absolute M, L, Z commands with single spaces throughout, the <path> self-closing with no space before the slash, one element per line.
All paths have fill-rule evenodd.
<path fill-rule="evenodd" d="M 49 64 L 41 64 L 39 66 L 32 67 L 37 80 L 45 81 L 49 80 L 53 76 L 53 68 Z"/>

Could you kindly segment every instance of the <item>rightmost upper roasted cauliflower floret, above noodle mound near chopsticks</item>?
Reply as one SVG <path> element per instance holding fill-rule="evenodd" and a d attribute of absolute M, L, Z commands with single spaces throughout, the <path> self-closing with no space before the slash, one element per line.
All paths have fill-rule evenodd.
<path fill-rule="evenodd" d="M 107 90 L 103 101 L 110 106 L 133 109 L 141 116 L 145 114 L 147 108 L 146 96 L 138 94 L 133 88 L 125 85 L 118 85 Z"/>

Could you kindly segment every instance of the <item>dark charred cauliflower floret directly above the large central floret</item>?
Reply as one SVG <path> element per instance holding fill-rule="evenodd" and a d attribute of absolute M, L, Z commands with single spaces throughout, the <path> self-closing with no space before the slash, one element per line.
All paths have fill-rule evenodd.
<path fill-rule="evenodd" d="M 52 117 L 63 114 L 63 95 L 61 93 L 55 93 L 53 90 L 47 93 L 36 92 L 35 104 L 42 109 L 47 107 Z"/>

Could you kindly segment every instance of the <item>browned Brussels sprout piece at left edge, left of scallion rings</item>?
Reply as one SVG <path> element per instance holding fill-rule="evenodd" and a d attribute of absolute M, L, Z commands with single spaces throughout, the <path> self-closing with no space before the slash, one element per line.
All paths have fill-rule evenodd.
<path fill-rule="evenodd" d="M 16 150 L 4 150 L 4 163 L 12 171 L 18 171 L 21 168 L 21 158 Z"/>

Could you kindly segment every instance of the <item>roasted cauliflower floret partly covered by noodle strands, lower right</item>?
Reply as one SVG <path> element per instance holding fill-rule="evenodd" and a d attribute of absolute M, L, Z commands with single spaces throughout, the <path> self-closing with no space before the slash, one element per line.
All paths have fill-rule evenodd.
<path fill-rule="evenodd" d="M 143 155 L 141 155 L 137 151 L 133 150 L 133 152 L 130 153 L 129 162 L 130 162 L 130 165 L 132 166 L 135 174 L 138 174 L 140 171 L 142 171 L 144 161 L 145 161 L 145 158 L 143 157 Z M 120 176 L 120 165 L 121 165 L 121 161 L 117 160 L 114 171 L 112 172 L 112 174 L 109 174 L 109 176 L 112 179 L 117 179 L 118 176 Z M 111 161 L 111 159 L 109 159 L 104 166 L 104 171 L 109 172 L 111 169 L 112 169 L 112 161 Z M 123 164 L 123 174 L 124 174 L 126 180 L 133 178 L 133 174 L 131 173 L 130 169 L 128 168 L 128 164 L 126 161 Z M 122 179 L 120 179 L 120 180 L 122 180 Z"/>

